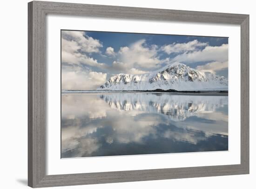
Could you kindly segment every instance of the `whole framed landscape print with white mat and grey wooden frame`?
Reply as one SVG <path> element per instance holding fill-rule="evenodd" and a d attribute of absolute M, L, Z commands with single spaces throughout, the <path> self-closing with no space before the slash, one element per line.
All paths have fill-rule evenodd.
<path fill-rule="evenodd" d="M 28 185 L 249 174 L 249 15 L 28 3 Z"/>

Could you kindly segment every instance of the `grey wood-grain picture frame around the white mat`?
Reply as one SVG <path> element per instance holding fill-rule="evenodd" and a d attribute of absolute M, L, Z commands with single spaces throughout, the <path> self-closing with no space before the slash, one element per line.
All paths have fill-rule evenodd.
<path fill-rule="evenodd" d="M 240 25 L 241 164 L 47 175 L 47 14 Z M 44 1 L 28 3 L 28 186 L 38 188 L 238 174 L 249 174 L 249 15 Z"/>

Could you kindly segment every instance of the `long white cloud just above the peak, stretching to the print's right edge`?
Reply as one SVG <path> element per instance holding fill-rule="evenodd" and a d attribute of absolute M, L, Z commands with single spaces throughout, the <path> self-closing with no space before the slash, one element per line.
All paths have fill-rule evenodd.
<path fill-rule="evenodd" d="M 185 52 L 176 56 L 173 61 L 195 63 L 203 61 L 225 62 L 228 60 L 228 44 L 206 46 L 203 50 Z"/>

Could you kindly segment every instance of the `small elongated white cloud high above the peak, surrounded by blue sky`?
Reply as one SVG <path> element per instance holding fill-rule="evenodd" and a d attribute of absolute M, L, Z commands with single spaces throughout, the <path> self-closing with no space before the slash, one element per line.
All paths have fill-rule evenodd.
<path fill-rule="evenodd" d="M 201 43 L 197 40 L 194 40 L 194 41 L 189 41 L 188 43 L 173 43 L 173 44 L 164 45 L 161 47 L 161 50 L 163 50 L 169 55 L 171 53 L 194 51 L 194 50 L 197 50 L 198 47 L 204 47 L 207 45 L 208 45 L 207 43 Z"/>

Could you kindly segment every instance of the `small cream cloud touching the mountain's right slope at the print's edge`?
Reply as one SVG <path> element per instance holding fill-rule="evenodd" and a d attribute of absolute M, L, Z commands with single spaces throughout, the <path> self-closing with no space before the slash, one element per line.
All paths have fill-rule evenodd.
<path fill-rule="evenodd" d="M 228 68 L 228 61 L 226 62 L 212 62 L 205 65 L 197 66 L 196 69 L 203 72 L 216 73 L 216 71 Z"/>

